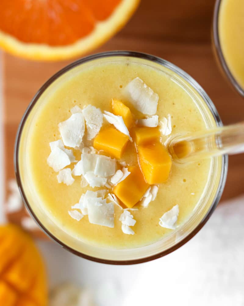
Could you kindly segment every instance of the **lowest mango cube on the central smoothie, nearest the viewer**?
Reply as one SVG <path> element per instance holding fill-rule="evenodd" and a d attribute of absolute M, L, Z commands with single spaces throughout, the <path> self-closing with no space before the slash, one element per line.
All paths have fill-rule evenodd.
<path fill-rule="evenodd" d="M 130 174 L 113 188 L 113 193 L 128 208 L 133 207 L 146 192 L 149 185 L 145 182 L 139 166 L 128 168 Z"/>

